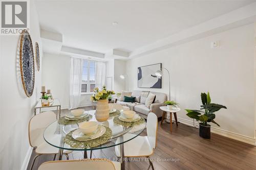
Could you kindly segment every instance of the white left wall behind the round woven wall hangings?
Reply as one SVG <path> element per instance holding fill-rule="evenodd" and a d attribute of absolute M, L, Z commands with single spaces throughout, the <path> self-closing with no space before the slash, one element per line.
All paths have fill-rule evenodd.
<path fill-rule="evenodd" d="M 30 1 L 30 30 L 33 48 L 38 42 L 40 57 L 42 46 L 37 13 L 33 1 Z M 35 86 L 33 95 L 25 97 L 24 90 L 19 91 L 16 78 L 16 54 L 19 36 L 0 36 L 0 169 L 26 168 L 31 149 L 28 140 L 28 124 L 33 115 L 33 107 L 39 98 L 41 86 L 41 68 L 35 66 Z M 41 61 L 41 60 L 40 60 Z M 39 90 L 38 90 L 39 89 Z"/>

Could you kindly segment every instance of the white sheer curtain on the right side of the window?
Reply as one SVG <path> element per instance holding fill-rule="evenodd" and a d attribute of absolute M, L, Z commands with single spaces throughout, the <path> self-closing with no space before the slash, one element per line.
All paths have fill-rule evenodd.
<path fill-rule="evenodd" d="M 102 61 L 96 61 L 95 63 L 95 87 L 102 88 L 105 85 L 106 77 L 106 63 Z"/>

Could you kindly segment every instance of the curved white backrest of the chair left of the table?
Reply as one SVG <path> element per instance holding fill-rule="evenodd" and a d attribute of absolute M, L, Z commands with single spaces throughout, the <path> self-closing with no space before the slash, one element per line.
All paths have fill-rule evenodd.
<path fill-rule="evenodd" d="M 37 147 L 45 141 L 44 131 L 54 121 L 56 115 L 52 111 L 42 112 L 33 116 L 29 121 L 29 143 L 31 147 Z"/>

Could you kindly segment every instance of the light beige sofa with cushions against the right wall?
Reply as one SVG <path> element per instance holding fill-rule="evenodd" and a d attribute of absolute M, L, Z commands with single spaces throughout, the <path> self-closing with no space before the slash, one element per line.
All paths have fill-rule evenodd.
<path fill-rule="evenodd" d="M 141 92 L 142 91 L 134 90 L 132 92 L 132 96 L 140 96 Z M 163 114 L 163 111 L 160 109 L 160 106 L 165 106 L 164 102 L 167 100 L 167 95 L 161 92 L 153 92 L 153 91 L 148 91 L 148 92 L 151 92 L 152 94 L 156 95 L 155 102 L 152 103 L 149 108 L 140 102 L 129 103 L 129 102 L 117 101 L 117 103 L 121 105 L 126 105 L 127 107 L 130 108 L 130 110 L 136 111 L 139 115 L 141 115 L 144 118 L 146 118 L 147 114 L 150 112 L 155 113 L 157 117 L 161 117 Z"/>

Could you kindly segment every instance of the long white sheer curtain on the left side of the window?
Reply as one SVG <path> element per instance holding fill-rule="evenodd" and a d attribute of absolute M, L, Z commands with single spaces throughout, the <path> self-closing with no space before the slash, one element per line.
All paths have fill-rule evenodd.
<path fill-rule="evenodd" d="M 75 109 L 80 104 L 82 81 L 82 59 L 70 57 L 70 109 Z"/>

